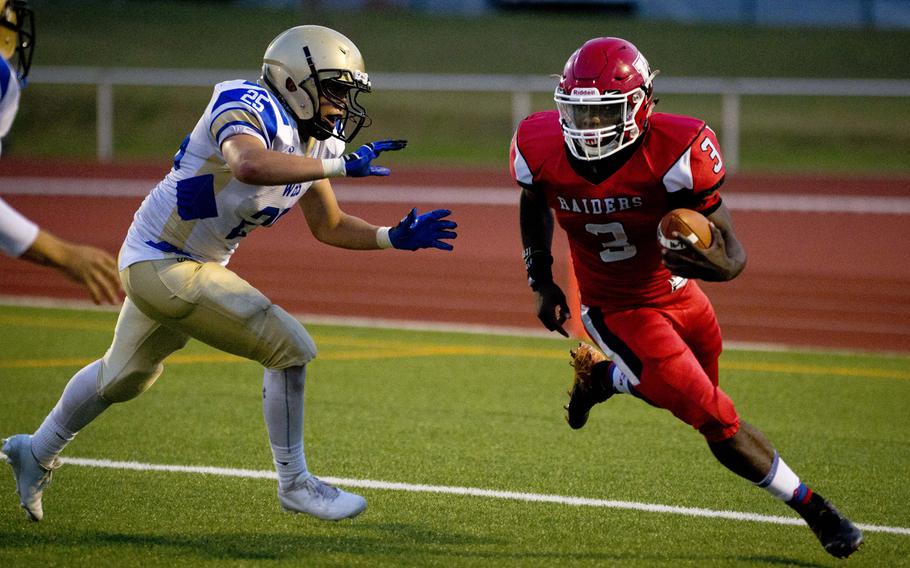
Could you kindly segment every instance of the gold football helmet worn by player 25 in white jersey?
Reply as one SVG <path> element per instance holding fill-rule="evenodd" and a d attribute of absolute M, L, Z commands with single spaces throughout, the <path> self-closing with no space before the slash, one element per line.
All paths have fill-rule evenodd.
<path fill-rule="evenodd" d="M 262 58 L 262 82 L 306 134 L 345 142 L 369 126 L 357 96 L 370 92 L 363 57 L 354 43 L 322 26 L 297 26 L 272 40 Z M 341 109 L 334 125 L 319 116 L 320 99 Z"/>

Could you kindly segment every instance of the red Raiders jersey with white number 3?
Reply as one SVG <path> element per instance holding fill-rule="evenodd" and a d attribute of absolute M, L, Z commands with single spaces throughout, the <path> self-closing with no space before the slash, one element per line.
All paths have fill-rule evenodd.
<path fill-rule="evenodd" d="M 655 113 L 639 142 L 619 169 L 593 183 L 572 167 L 557 111 L 527 117 L 512 139 L 512 177 L 542 192 L 555 212 L 588 306 L 670 302 L 685 281 L 661 264 L 657 224 L 677 207 L 708 215 L 720 205 L 723 159 L 704 121 Z"/>

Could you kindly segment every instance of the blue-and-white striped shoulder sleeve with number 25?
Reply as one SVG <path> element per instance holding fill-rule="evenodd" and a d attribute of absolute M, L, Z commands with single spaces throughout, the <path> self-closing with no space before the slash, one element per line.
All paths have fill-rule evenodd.
<path fill-rule="evenodd" d="M 269 94 L 252 85 L 221 91 L 209 116 L 209 132 L 219 148 L 236 134 L 255 136 L 270 148 L 278 134 L 277 116 Z"/>

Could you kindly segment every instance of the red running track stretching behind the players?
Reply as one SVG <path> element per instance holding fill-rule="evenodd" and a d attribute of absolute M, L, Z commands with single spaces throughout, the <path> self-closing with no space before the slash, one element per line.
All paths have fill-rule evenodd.
<path fill-rule="evenodd" d="M 6 160 L 5 160 L 6 161 Z M 0 194 L 50 231 L 69 239 L 119 249 L 140 197 L 51 195 L 60 179 L 148 179 L 157 167 L 84 166 L 8 162 L 0 166 Z M 38 172 L 38 173 L 36 173 Z M 46 177 L 49 195 L 14 193 L 10 176 Z M 4 179 L 6 178 L 6 179 Z M 376 186 L 457 186 L 511 190 L 503 172 L 395 172 Z M 346 188 L 356 189 L 356 181 Z M 342 184 L 337 184 L 342 186 Z M 472 189 L 474 188 L 474 189 Z M 910 351 L 910 263 L 906 207 L 894 211 L 737 210 L 735 199 L 773 193 L 790 198 L 858 196 L 910 202 L 906 178 L 837 179 L 731 177 L 723 192 L 737 234 L 749 253 L 746 271 L 724 284 L 704 284 L 728 341 L 871 351 Z M 479 195 L 479 194 L 478 194 Z M 517 194 L 516 194 L 517 198 Z M 418 204 L 420 210 L 446 203 Z M 394 224 L 405 203 L 344 202 L 349 213 Z M 476 324 L 539 329 L 534 298 L 525 285 L 517 207 L 457 204 L 456 250 L 344 251 L 317 242 L 303 216 L 289 214 L 243 242 L 231 267 L 273 301 L 295 313 Z M 559 235 L 556 248 L 565 249 Z M 555 272 L 567 275 L 565 255 Z M 566 278 L 562 278 L 563 282 Z M 0 294 L 86 298 L 56 272 L 0 257 Z"/>

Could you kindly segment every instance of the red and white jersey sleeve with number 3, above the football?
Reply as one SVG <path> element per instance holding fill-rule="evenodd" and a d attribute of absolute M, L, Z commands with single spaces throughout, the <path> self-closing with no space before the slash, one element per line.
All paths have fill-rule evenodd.
<path fill-rule="evenodd" d="M 672 207 L 710 215 L 721 204 L 718 188 L 724 183 L 723 157 L 714 131 L 705 126 L 664 175 Z"/>

